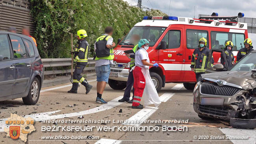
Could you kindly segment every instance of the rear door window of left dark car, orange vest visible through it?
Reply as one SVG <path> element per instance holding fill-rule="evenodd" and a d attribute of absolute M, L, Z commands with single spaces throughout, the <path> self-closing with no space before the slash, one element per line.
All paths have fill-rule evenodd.
<path fill-rule="evenodd" d="M 13 55 L 15 59 L 27 57 L 25 45 L 20 37 L 10 35 Z"/>

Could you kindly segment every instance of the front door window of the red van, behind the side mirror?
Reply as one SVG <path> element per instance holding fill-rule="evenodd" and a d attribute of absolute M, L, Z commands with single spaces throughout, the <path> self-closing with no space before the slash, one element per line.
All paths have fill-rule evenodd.
<path fill-rule="evenodd" d="M 167 49 L 180 47 L 180 31 L 171 30 L 163 37 L 162 41 L 167 42 Z"/>

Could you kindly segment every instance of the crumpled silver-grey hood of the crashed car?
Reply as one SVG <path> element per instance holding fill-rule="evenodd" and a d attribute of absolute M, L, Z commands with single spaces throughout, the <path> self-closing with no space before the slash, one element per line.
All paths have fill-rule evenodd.
<path fill-rule="evenodd" d="M 256 77 L 252 76 L 252 72 L 214 72 L 209 74 L 202 74 L 202 79 L 217 82 L 218 85 L 219 81 L 222 80 L 220 84 L 230 85 L 245 90 L 256 88 Z"/>

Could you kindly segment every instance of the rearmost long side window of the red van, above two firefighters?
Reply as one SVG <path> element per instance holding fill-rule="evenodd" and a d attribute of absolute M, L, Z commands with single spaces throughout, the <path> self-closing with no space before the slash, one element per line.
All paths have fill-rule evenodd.
<path fill-rule="evenodd" d="M 221 31 L 211 32 L 211 48 L 214 49 L 224 49 L 227 41 L 232 41 L 234 47 L 232 50 L 240 50 L 243 48 L 243 41 L 245 40 L 245 35 L 243 33 L 228 33 Z"/>

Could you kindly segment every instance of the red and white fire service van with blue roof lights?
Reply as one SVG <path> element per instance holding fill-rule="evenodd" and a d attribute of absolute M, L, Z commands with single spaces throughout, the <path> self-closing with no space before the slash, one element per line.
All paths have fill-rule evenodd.
<path fill-rule="evenodd" d="M 217 13 L 199 19 L 187 17 L 144 17 L 130 30 L 114 49 L 115 66 L 111 67 L 109 86 L 112 89 L 124 89 L 129 74 L 130 59 L 124 50 L 134 47 L 133 35 L 149 41 L 147 50 L 150 63 L 159 66 L 150 67 L 150 75 L 157 91 L 165 83 L 183 83 L 186 89 L 193 89 L 196 79 L 191 71 L 191 57 L 198 48 L 202 37 L 208 41 L 208 48 L 224 48 L 226 41 L 234 43 L 233 54 L 244 47 L 243 41 L 248 38 L 247 24 L 237 22 L 237 17 L 219 17 Z M 220 63 L 220 55 L 213 55 L 215 63 Z"/>

